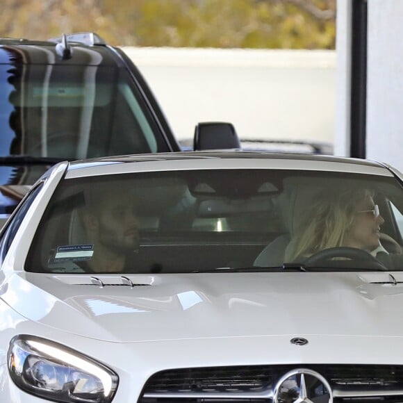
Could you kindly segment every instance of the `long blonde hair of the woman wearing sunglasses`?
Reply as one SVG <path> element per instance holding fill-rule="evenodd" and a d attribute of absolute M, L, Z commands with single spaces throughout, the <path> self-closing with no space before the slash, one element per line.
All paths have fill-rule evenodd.
<path fill-rule="evenodd" d="M 372 197 L 365 188 L 324 189 L 295 229 L 286 249 L 286 261 L 297 261 L 331 247 L 342 247 L 363 200 Z"/>

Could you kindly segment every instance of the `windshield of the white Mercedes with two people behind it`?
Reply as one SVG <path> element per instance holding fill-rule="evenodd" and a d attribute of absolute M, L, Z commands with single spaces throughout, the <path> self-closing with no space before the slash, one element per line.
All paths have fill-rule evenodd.
<path fill-rule="evenodd" d="M 25 270 L 403 270 L 392 176 L 178 170 L 65 179 Z"/>

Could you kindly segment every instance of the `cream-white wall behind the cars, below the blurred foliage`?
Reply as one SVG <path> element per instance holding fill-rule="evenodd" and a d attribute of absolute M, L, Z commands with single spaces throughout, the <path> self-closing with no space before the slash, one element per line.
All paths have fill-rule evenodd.
<path fill-rule="evenodd" d="M 334 51 L 124 47 L 178 139 L 227 121 L 240 138 L 334 142 Z"/>

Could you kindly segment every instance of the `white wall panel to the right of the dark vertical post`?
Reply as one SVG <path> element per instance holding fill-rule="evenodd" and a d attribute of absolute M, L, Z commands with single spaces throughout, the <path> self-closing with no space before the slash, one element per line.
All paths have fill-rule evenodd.
<path fill-rule="evenodd" d="M 368 1 L 367 157 L 403 172 L 403 1 Z"/>

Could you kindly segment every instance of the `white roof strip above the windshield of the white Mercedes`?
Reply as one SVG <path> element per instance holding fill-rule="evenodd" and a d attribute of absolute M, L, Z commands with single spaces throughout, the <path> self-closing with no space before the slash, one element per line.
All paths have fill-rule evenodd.
<path fill-rule="evenodd" d="M 248 151 L 181 151 L 74 161 L 67 167 L 66 178 L 135 171 L 237 168 L 319 170 L 393 176 L 385 165 L 358 158 Z"/>

